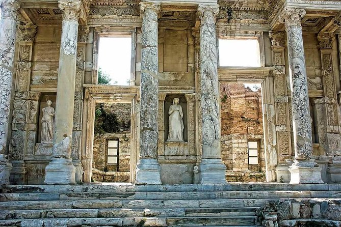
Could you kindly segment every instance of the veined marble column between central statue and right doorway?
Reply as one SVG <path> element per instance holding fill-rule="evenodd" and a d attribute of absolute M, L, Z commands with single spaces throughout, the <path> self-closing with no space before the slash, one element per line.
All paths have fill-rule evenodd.
<path fill-rule="evenodd" d="M 221 160 L 220 105 L 218 83 L 218 58 L 216 40 L 216 15 L 219 5 L 199 5 L 200 74 L 202 110 L 202 160 L 201 184 L 226 183 L 226 166 Z"/>

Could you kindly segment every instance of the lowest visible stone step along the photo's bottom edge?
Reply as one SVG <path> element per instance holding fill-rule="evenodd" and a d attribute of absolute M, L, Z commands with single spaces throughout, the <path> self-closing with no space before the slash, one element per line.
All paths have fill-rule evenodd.
<path fill-rule="evenodd" d="M 0 220 L 0 226 L 256 226 L 255 216 L 240 217 L 132 217 L 132 218 L 39 218 Z"/>

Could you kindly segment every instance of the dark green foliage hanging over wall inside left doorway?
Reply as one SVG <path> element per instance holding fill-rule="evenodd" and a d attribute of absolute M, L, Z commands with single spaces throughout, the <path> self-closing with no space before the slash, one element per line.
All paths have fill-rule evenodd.
<path fill-rule="evenodd" d="M 95 110 L 95 134 L 114 133 L 119 128 L 120 124 L 115 113 L 108 113 L 103 108 Z"/>

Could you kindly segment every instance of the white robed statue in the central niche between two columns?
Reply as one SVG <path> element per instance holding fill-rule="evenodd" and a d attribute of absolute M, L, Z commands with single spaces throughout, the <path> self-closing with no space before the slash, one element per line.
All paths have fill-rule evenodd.
<path fill-rule="evenodd" d="M 183 112 L 179 105 L 179 99 L 173 99 L 173 105 L 169 107 L 169 132 L 167 141 L 183 142 Z"/>

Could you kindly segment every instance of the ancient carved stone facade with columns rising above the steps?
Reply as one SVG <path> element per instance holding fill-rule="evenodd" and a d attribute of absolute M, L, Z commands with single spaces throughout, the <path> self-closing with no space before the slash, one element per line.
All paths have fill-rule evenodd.
<path fill-rule="evenodd" d="M 0 4 L 1 184 L 90 182 L 96 103 L 104 102 L 131 106 L 130 182 L 225 183 L 225 164 L 240 171 L 222 161 L 222 147 L 228 156 L 224 146 L 237 139 L 221 133 L 219 84 L 226 82 L 261 83 L 267 181 L 341 182 L 339 1 Z M 132 38 L 130 86 L 98 85 L 99 41 L 117 35 Z M 260 67 L 220 66 L 220 39 L 257 40 Z M 174 98 L 183 141 L 167 141 Z M 55 130 L 45 144 L 47 100 Z M 245 147 L 249 135 L 263 141 L 252 127 L 236 143 Z"/>

